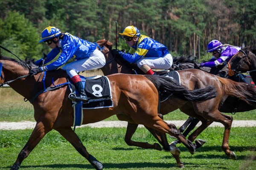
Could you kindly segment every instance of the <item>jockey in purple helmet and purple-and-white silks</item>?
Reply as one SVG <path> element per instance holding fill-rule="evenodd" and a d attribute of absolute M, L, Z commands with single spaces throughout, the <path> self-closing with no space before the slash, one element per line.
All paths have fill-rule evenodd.
<path fill-rule="evenodd" d="M 235 55 L 241 48 L 232 45 L 222 45 L 218 40 L 212 40 L 207 46 L 208 51 L 212 53 L 212 59 L 209 62 L 202 62 L 199 67 L 216 67 L 218 65 L 226 65 L 227 62 Z"/>

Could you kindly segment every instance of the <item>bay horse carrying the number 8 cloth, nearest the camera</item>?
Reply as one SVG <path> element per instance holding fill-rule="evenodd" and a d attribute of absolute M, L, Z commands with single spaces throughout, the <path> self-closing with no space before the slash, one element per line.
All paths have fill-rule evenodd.
<path fill-rule="evenodd" d="M 28 76 L 29 68 L 23 61 L 0 57 L 0 83 L 9 84 L 17 93 L 26 99 L 31 99 L 38 91 L 44 89 L 40 74 Z M 44 74 L 44 73 L 42 73 Z M 177 130 L 175 125 L 167 124 L 157 115 L 158 93 L 164 92 L 177 97 L 177 101 L 205 100 L 216 96 L 212 86 L 204 89 L 189 91 L 170 78 L 113 74 L 108 76 L 114 106 L 111 108 L 88 109 L 83 111 L 82 124 L 102 121 L 112 115 L 119 120 L 142 124 L 175 136 L 190 150 L 195 152 L 195 146 Z M 52 87 L 67 82 L 66 71 L 47 71 L 46 87 Z M 0 85 L 0 86 L 1 86 Z M 11 170 L 19 169 L 22 161 L 36 147 L 41 139 L 52 129 L 57 130 L 76 150 L 84 156 L 96 170 L 102 170 L 103 165 L 95 159 L 72 130 L 74 115 L 72 102 L 68 99 L 70 89 L 67 85 L 40 94 L 32 102 L 34 107 L 35 128 L 20 151 Z M 174 150 L 175 153 L 175 150 Z"/>

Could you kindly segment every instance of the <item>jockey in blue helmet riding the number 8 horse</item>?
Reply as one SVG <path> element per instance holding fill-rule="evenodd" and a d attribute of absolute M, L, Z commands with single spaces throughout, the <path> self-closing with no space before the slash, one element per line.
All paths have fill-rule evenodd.
<path fill-rule="evenodd" d="M 94 43 L 82 40 L 67 32 L 62 33 L 58 28 L 52 26 L 43 30 L 42 40 L 39 42 L 45 42 L 52 48 L 52 51 L 47 54 L 45 64 L 54 59 L 60 52 L 61 54 L 56 61 L 40 68 L 33 68 L 29 71 L 29 74 L 35 75 L 42 71 L 57 69 L 61 65 L 64 65 L 70 58 L 74 58 L 76 61 L 64 65 L 62 69 L 67 71 L 67 74 L 79 91 L 79 94 L 72 96 L 72 99 L 86 101 L 87 96 L 78 73 L 80 71 L 103 67 L 106 60 L 102 52 L 96 48 Z M 39 59 L 35 64 L 39 65 L 42 60 L 43 58 Z"/>

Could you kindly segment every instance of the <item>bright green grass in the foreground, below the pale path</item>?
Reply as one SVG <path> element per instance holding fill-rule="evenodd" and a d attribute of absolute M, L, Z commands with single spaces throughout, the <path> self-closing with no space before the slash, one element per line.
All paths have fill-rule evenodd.
<path fill-rule="evenodd" d="M 224 128 L 209 127 L 198 138 L 207 143 L 191 155 L 182 145 L 181 161 L 185 170 L 255 170 L 256 127 L 234 127 L 230 133 L 230 149 L 238 160 L 227 158 L 221 150 Z M 32 130 L 0 130 L 0 169 L 9 170 L 17 159 Z M 125 144 L 125 128 L 77 128 L 87 151 L 102 162 L 106 170 L 178 170 L 169 152 L 146 150 Z M 133 139 L 154 143 L 145 128 L 139 128 Z M 171 142 L 173 139 L 169 138 Z M 58 132 L 48 133 L 30 153 L 21 170 L 93 170 Z"/>

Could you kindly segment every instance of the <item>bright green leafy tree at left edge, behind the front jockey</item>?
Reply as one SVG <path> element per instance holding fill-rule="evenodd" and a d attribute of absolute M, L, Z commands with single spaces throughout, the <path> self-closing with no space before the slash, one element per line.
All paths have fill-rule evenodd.
<path fill-rule="evenodd" d="M 21 59 L 35 57 L 39 53 L 38 33 L 24 14 L 10 11 L 1 21 L 0 43 Z M 3 55 L 10 54 L 3 51 Z"/>

